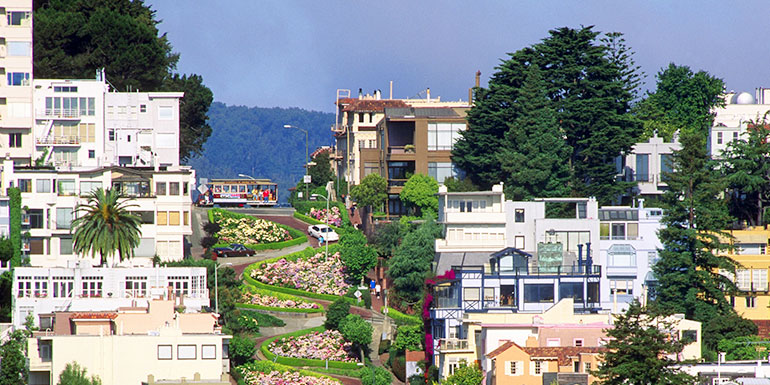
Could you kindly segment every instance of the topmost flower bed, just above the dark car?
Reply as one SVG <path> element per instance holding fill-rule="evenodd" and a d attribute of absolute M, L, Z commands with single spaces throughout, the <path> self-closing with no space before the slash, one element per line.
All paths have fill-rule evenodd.
<path fill-rule="evenodd" d="M 292 239 L 288 230 L 264 219 L 252 217 L 228 218 L 218 211 L 214 212 L 213 219 L 222 228 L 216 234 L 222 243 L 257 245 Z"/>

